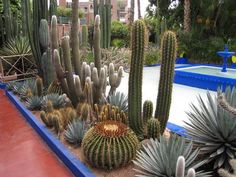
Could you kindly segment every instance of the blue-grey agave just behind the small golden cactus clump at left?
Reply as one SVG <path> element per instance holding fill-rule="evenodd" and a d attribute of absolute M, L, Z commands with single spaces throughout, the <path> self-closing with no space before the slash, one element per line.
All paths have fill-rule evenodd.
<path fill-rule="evenodd" d="M 57 93 L 51 93 L 43 97 L 43 105 L 46 105 L 48 101 L 52 102 L 52 105 L 55 109 L 62 108 L 65 106 L 65 95 L 59 95 Z"/>

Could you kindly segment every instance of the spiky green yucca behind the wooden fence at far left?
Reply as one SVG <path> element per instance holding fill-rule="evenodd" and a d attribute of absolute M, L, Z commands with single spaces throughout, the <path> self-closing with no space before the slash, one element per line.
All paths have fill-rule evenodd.
<path fill-rule="evenodd" d="M 29 40 L 26 37 L 12 38 L 0 50 L 1 55 L 21 55 L 31 53 Z"/>

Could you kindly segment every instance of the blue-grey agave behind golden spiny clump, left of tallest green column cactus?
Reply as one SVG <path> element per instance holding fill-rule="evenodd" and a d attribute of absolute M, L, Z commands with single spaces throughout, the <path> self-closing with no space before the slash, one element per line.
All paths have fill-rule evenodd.
<path fill-rule="evenodd" d="M 107 101 L 112 106 L 117 106 L 120 110 L 124 112 L 128 111 L 128 98 L 122 92 L 115 92 L 114 94 L 109 95 Z"/>

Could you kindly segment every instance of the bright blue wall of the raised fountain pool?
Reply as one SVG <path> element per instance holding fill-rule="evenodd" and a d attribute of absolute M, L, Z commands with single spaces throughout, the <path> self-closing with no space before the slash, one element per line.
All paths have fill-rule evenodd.
<path fill-rule="evenodd" d="M 189 65 L 182 66 L 179 68 L 193 67 L 193 66 L 214 66 L 215 65 Z M 218 87 L 222 87 L 224 90 L 227 86 L 235 86 L 236 79 L 223 78 L 217 76 L 209 76 L 198 73 L 190 73 L 181 70 L 175 70 L 174 83 L 187 85 L 190 87 L 197 87 L 201 89 L 207 89 L 212 91 L 217 91 Z"/>

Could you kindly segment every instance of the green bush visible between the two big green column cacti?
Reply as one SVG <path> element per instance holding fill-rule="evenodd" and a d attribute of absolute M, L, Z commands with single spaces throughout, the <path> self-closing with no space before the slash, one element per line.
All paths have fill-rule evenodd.
<path fill-rule="evenodd" d="M 161 56 L 159 49 L 156 47 L 149 47 L 144 54 L 144 64 L 153 65 L 160 63 Z"/>

